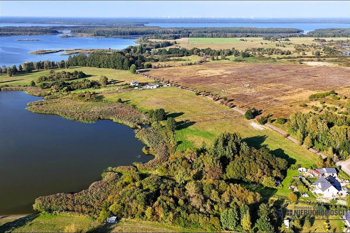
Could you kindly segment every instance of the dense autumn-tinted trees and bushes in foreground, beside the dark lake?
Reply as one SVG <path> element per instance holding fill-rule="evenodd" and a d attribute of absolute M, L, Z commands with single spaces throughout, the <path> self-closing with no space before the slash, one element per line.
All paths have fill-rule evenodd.
<path fill-rule="evenodd" d="M 168 141 L 174 137 L 168 121 L 163 127 L 155 122 L 151 129 L 151 135 L 141 134 L 151 140 L 148 143 L 158 141 L 155 147 L 162 141 L 159 138 Z M 140 131 L 145 130 L 149 131 Z M 266 148 L 247 146 L 236 133 L 221 134 L 210 147 L 174 151 L 164 160 L 157 160 L 157 156 L 154 160 L 158 162 L 152 160 L 146 166 L 108 168 L 102 181 L 89 189 L 39 197 L 33 207 L 51 213 L 87 214 L 100 220 L 117 216 L 159 221 L 211 232 L 253 228 L 276 231 L 275 208 L 247 187 L 263 183 L 277 188 L 275 178 L 283 178 L 285 159 Z M 245 175 L 247 178 L 242 177 Z"/>

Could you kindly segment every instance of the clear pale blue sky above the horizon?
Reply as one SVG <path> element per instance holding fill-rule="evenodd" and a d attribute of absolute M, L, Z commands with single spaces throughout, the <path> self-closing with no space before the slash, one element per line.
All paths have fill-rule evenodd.
<path fill-rule="evenodd" d="M 350 17 L 346 1 L 0 1 L 0 16 Z"/>

